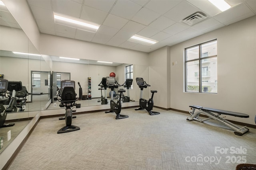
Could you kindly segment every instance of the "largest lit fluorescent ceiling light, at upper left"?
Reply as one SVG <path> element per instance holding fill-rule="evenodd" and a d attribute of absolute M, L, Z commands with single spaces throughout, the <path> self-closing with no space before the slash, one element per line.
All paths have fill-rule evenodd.
<path fill-rule="evenodd" d="M 56 13 L 54 13 L 54 22 L 90 32 L 96 32 L 100 27 L 100 25 L 96 23 L 81 20 L 79 18 L 71 18 L 70 16 L 64 16 Z"/>

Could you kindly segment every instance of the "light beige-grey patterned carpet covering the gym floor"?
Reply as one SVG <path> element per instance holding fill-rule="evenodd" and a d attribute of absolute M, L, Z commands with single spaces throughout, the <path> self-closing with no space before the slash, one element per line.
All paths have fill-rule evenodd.
<path fill-rule="evenodd" d="M 122 109 L 129 118 L 120 120 L 115 113 L 77 115 L 72 124 L 80 130 L 62 134 L 57 131 L 64 120 L 41 119 L 9 169 L 235 170 L 239 159 L 256 163 L 256 129 L 237 136 L 214 121 L 186 121 L 185 113 L 154 111 L 160 114 Z M 215 147 L 228 151 L 215 153 Z M 232 154 L 230 147 L 247 151 Z"/>

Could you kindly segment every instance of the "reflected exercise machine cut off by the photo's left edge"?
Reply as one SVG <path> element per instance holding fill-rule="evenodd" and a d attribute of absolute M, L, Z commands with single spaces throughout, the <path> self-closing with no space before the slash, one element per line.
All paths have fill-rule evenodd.
<path fill-rule="evenodd" d="M 1 127 L 10 127 L 15 125 L 15 123 L 8 123 L 5 124 L 5 120 L 7 117 L 6 109 L 4 108 L 4 102 L 8 101 L 8 95 L 7 95 L 7 87 L 8 87 L 8 80 L 0 79 L 0 128 Z"/>

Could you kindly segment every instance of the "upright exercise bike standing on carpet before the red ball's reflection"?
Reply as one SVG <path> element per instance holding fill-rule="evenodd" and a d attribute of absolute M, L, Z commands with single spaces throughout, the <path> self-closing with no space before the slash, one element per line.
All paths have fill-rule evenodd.
<path fill-rule="evenodd" d="M 122 109 L 122 104 L 121 104 L 121 98 L 119 98 L 119 100 L 117 100 L 116 102 L 113 100 L 113 94 L 114 94 L 114 88 L 118 88 L 118 86 L 121 86 L 120 84 L 118 84 L 118 82 L 116 82 L 114 77 L 106 77 L 106 84 L 108 86 L 108 88 L 111 89 L 111 95 L 110 95 L 110 111 L 105 111 L 105 113 L 110 113 L 110 112 L 115 112 L 116 113 L 116 119 L 124 119 L 129 117 L 128 115 L 121 115 L 121 109 Z M 122 93 L 125 92 L 124 89 L 120 89 L 118 90 L 118 93 L 120 93 L 120 96 L 122 96 Z"/>

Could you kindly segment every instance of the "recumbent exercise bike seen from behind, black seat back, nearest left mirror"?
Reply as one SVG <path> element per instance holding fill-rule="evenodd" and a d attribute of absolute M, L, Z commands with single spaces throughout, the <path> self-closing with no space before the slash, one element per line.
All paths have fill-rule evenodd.
<path fill-rule="evenodd" d="M 81 107 L 81 104 L 76 104 L 78 98 L 76 97 L 75 92 L 75 82 L 70 80 L 62 80 L 58 96 L 54 96 L 54 100 L 58 100 L 59 102 L 61 102 L 59 106 L 65 107 L 66 110 L 65 117 L 59 118 L 60 120 L 65 119 L 66 126 L 58 130 L 57 133 L 67 133 L 80 130 L 80 127 L 71 125 L 72 118 L 76 118 L 76 116 L 73 116 L 72 113 L 76 111 L 76 108 Z"/>

